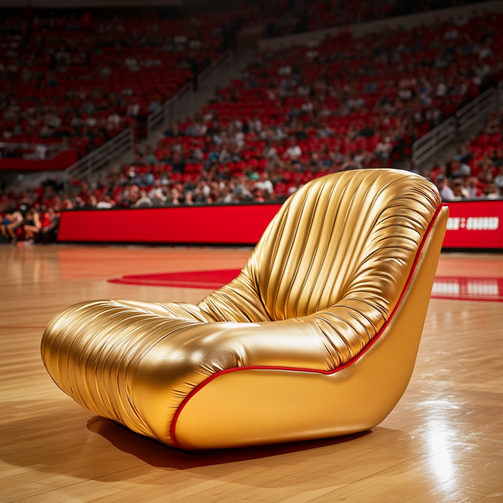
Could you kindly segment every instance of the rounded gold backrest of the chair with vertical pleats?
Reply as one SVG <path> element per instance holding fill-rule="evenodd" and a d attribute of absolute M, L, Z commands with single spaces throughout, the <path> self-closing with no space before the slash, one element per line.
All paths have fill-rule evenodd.
<path fill-rule="evenodd" d="M 408 172 L 315 179 L 285 202 L 241 274 L 199 305 L 219 321 L 257 322 L 344 304 L 378 329 L 439 205 L 435 186 Z"/>

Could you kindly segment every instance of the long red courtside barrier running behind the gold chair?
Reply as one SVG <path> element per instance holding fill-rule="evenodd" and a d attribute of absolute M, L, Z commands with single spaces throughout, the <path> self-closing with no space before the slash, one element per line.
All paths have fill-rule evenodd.
<path fill-rule="evenodd" d="M 255 244 L 279 204 L 61 213 L 59 241 Z M 503 200 L 448 203 L 444 248 L 503 248 Z M 463 220 L 464 219 L 464 220 Z"/>

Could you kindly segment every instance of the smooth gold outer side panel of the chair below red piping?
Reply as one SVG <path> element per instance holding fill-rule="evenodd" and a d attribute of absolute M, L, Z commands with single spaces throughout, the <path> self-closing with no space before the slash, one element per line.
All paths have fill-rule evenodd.
<path fill-rule="evenodd" d="M 414 368 L 449 210 L 428 236 L 391 322 L 356 362 L 331 373 L 221 373 L 185 402 L 175 439 L 186 449 L 272 444 L 349 435 L 383 421 Z"/>

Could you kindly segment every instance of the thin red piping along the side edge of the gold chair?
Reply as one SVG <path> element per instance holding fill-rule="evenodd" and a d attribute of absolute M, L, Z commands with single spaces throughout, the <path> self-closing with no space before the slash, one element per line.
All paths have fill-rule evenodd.
<path fill-rule="evenodd" d="M 231 369 L 220 370 L 219 372 L 216 372 L 215 374 L 213 374 L 210 377 L 206 378 L 201 384 L 199 384 L 198 386 L 196 386 L 185 397 L 185 399 L 183 400 L 183 402 L 180 404 L 180 406 L 178 407 L 177 411 L 175 412 L 175 416 L 173 417 L 173 421 L 171 422 L 171 430 L 170 430 L 171 441 L 175 444 L 175 446 L 178 447 L 179 449 L 183 449 L 184 451 L 190 451 L 190 449 L 182 447 L 177 442 L 177 440 L 175 438 L 175 428 L 177 426 L 178 417 L 181 414 L 181 412 L 182 412 L 183 408 L 185 407 L 185 405 L 187 405 L 187 403 L 189 402 L 189 400 L 200 389 L 202 389 L 205 386 L 207 386 L 211 381 L 213 381 L 213 379 L 216 379 L 218 376 L 220 376 L 222 374 L 228 374 L 229 372 L 236 372 L 238 370 L 291 370 L 291 371 L 295 371 L 295 372 L 313 372 L 313 373 L 317 373 L 317 374 L 331 375 L 331 374 L 335 374 L 336 372 L 339 372 L 340 370 L 343 370 L 343 369 L 349 367 L 350 365 L 352 365 L 353 363 L 355 363 L 356 361 L 358 361 L 360 359 L 360 357 L 363 354 L 365 354 L 375 344 L 375 342 L 381 337 L 382 333 L 384 332 L 384 330 L 387 328 L 387 326 L 389 325 L 389 323 L 393 319 L 393 316 L 396 313 L 396 311 L 397 311 L 397 309 L 398 309 L 398 307 L 399 307 L 399 305 L 400 305 L 400 303 L 401 303 L 401 301 L 403 299 L 403 296 L 405 295 L 405 292 L 406 292 L 406 290 L 407 290 L 410 282 L 412 281 L 412 276 L 413 276 L 413 274 L 415 272 L 415 268 L 417 266 L 417 263 L 419 262 L 419 259 L 420 259 L 420 256 L 421 256 L 421 252 L 423 251 L 423 247 L 425 246 L 427 237 L 430 234 L 430 231 L 431 231 L 431 229 L 433 227 L 433 224 L 437 220 L 437 217 L 439 216 L 439 213 L 442 210 L 443 206 L 447 206 L 447 205 L 446 204 L 441 204 L 441 205 L 438 206 L 437 211 L 433 215 L 433 218 L 432 218 L 430 224 L 428 225 L 428 228 L 426 229 L 425 235 L 423 236 L 423 240 L 421 241 L 421 244 L 420 244 L 419 248 L 417 249 L 417 253 L 416 253 L 414 262 L 412 263 L 412 268 L 410 270 L 410 273 L 409 273 L 409 276 L 408 276 L 407 281 L 405 283 L 405 286 L 403 287 L 402 293 L 400 294 L 400 297 L 398 298 L 398 302 L 396 303 L 393 311 L 391 311 L 391 314 L 390 314 L 389 318 L 386 320 L 386 322 L 381 327 L 381 329 L 379 330 L 379 332 L 377 332 L 376 336 L 372 338 L 372 340 L 367 344 L 367 346 L 365 346 L 365 348 L 362 349 L 362 351 L 360 351 L 360 353 L 358 353 L 358 355 L 356 355 L 350 361 L 346 362 L 344 365 L 341 365 L 340 367 L 337 367 L 334 370 L 318 370 L 318 369 L 304 369 L 304 368 L 296 368 L 296 367 L 271 367 L 271 366 L 270 367 L 267 367 L 267 366 L 233 367 Z"/>

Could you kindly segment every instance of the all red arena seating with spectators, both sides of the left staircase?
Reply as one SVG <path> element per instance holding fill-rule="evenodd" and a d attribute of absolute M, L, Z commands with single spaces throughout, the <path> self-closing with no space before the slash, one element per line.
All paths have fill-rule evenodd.
<path fill-rule="evenodd" d="M 193 78 L 184 65 L 198 60 L 201 68 L 222 49 L 222 28 L 211 17 L 87 28 L 84 19 L 53 21 L 14 24 L 3 35 L 4 141 L 69 135 L 84 155 L 121 128 L 138 127 Z M 501 79 L 502 21 L 486 14 L 361 38 L 343 30 L 320 44 L 257 53 L 242 78 L 193 117 L 168 125 L 157 145 L 139 147 L 130 165 L 92 184 L 73 180 L 67 193 L 60 181 L 23 193 L 7 188 L 0 211 L 283 201 L 328 173 L 393 166 Z M 10 35 L 16 30 L 30 34 Z M 166 32 L 184 35 L 156 36 Z M 24 63 L 14 70 L 14 60 Z M 444 200 L 497 197 L 501 145 L 494 114 L 478 137 L 424 175 Z"/>

